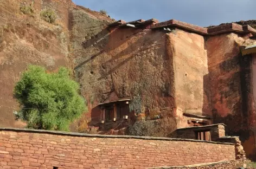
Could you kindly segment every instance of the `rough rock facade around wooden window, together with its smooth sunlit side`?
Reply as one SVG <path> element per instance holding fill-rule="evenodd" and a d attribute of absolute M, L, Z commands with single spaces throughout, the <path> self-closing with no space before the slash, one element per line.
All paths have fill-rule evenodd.
<path fill-rule="evenodd" d="M 76 60 L 85 62 L 78 64 L 76 73 L 85 97 L 94 95 L 93 107 L 130 97 L 130 111 L 175 116 L 180 119 L 178 127 L 188 126 L 188 118 L 183 117 L 186 111 L 212 115 L 203 36 L 178 29 L 166 34 L 116 28 L 99 30 L 84 46 L 81 50 L 85 55 Z M 100 116 L 100 109 L 93 108 L 89 114 L 92 118 Z"/>

